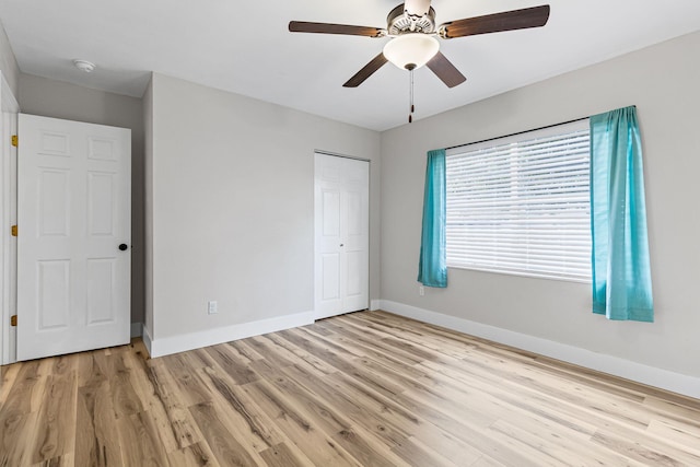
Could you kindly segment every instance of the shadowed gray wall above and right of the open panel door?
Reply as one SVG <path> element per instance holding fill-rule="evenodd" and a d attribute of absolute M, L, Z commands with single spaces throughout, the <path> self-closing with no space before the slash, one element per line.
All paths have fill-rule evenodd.
<path fill-rule="evenodd" d="M 131 129 L 131 322 L 144 317 L 143 109 L 141 100 L 22 73 L 24 114 Z"/>

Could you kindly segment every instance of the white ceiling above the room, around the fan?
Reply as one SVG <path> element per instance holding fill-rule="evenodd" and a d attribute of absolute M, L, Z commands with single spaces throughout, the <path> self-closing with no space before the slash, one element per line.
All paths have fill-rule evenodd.
<path fill-rule="evenodd" d="M 24 73 L 140 97 L 151 71 L 361 127 L 407 121 L 408 72 L 342 87 L 387 38 L 292 34 L 290 20 L 386 26 L 400 0 L 0 0 Z M 549 3 L 541 28 L 441 42 L 467 77 L 416 71 L 416 118 L 700 30 L 698 0 L 433 0 L 436 22 Z M 92 73 L 75 58 L 97 65 Z M 698 57 L 688 57 L 697 59 Z"/>

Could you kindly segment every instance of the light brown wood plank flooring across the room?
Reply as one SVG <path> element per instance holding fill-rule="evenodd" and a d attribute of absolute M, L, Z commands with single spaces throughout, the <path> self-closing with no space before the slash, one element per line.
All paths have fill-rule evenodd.
<path fill-rule="evenodd" d="M 700 466 L 700 400 L 383 312 L 0 376 L 0 466 Z"/>

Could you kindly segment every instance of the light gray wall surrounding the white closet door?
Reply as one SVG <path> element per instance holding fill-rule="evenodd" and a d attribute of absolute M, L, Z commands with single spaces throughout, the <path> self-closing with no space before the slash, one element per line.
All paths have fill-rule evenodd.
<path fill-rule="evenodd" d="M 158 73 L 151 93 L 149 332 L 154 348 L 167 342 L 154 354 L 313 311 L 314 150 L 371 161 L 378 299 L 377 132 Z M 207 314 L 209 300 L 218 315 Z"/>

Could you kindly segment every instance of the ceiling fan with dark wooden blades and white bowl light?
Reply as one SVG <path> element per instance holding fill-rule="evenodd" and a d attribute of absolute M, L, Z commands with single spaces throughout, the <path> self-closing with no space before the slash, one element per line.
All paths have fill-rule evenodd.
<path fill-rule="evenodd" d="M 364 37 L 392 37 L 384 50 L 350 78 L 343 86 L 357 87 L 387 61 L 412 71 L 425 65 L 447 87 L 466 81 L 464 74 L 440 51 L 441 39 L 540 27 L 549 19 L 549 5 L 505 11 L 483 16 L 450 21 L 435 26 L 431 0 L 406 0 L 387 16 L 386 28 L 347 24 L 291 21 L 292 33 L 346 34 Z"/>

